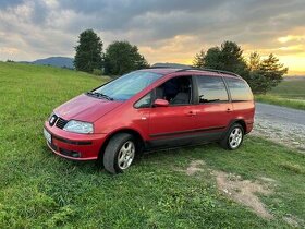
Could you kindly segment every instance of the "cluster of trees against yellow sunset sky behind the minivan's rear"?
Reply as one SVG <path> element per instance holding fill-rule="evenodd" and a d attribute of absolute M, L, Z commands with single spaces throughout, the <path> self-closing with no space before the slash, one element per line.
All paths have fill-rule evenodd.
<path fill-rule="evenodd" d="M 263 94 L 277 86 L 288 73 L 288 68 L 272 53 L 261 60 L 259 53 L 253 52 L 246 62 L 242 48 L 232 41 L 209 48 L 207 52 L 202 50 L 195 56 L 194 65 L 237 73 L 248 82 L 254 93 Z"/>

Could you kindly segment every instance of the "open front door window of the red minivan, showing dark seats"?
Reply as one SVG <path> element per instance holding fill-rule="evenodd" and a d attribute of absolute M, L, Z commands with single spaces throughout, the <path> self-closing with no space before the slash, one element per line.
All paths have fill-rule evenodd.
<path fill-rule="evenodd" d="M 171 106 L 188 105 L 192 103 L 192 77 L 173 77 L 155 89 L 156 99 L 169 101 Z"/>

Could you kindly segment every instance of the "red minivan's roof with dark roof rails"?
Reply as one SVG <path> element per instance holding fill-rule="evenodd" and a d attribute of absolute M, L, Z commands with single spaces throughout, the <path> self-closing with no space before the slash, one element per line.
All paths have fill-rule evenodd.
<path fill-rule="evenodd" d="M 215 69 L 197 69 L 197 68 L 187 68 L 187 69 L 176 69 L 176 68 L 150 68 L 150 69 L 143 69 L 141 71 L 147 71 L 147 72 L 154 72 L 159 73 L 162 75 L 171 74 L 171 73 L 202 73 L 205 75 L 225 75 L 225 76 L 234 76 L 241 79 L 240 75 L 229 72 L 229 71 L 222 71 L 222 70 L 215 70 Z"/>

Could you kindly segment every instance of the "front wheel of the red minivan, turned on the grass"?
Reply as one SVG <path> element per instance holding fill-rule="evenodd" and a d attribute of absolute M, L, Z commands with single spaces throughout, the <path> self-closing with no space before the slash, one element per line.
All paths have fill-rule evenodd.
<path fill-rule="evenodd" d="M 133 164 L 135 154 L 135 137 L 129 133 L 119 133 L 112 136 L 106 146 L 103 167 L 112 174 L 123 172 Z"/>

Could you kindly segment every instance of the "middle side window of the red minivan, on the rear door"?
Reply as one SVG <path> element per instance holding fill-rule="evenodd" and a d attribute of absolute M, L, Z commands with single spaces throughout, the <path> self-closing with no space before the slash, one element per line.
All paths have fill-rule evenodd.
<path fill-rule="evenodd" d="M 199 103 L 228 101 L 228 93 L 222 77 L 219 76 L 196 76 L 198 84 Z"/>

